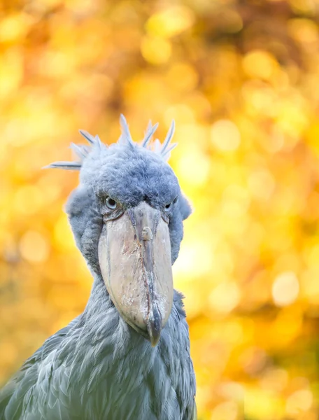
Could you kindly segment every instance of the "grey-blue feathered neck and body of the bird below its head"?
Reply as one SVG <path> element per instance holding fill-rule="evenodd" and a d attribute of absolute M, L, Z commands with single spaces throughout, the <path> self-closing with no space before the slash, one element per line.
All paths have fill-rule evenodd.
<path fill-rule="evenodd" d="M 96 278 L 84 313 L 47 339 L 3 388 L 1 420 L 196 419 L 180 295 L 153 349 L 122 321 L 104 288 Z"/>

